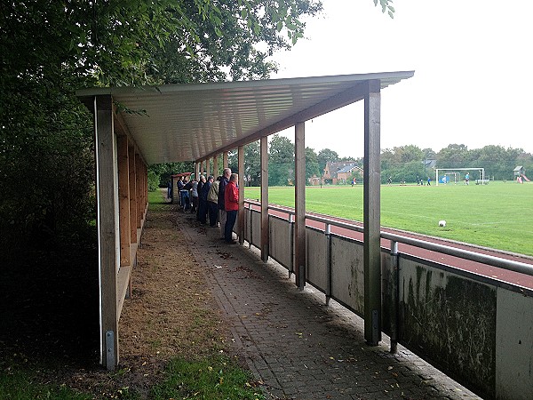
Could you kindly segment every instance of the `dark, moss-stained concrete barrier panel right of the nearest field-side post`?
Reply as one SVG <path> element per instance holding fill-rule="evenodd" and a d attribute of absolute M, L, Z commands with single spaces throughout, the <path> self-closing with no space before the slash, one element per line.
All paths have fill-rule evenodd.
<path fill-rule="evenodd" d="M 497 291 L 400 257 L 399 342 L 477 392 L 495 388 Z"/>

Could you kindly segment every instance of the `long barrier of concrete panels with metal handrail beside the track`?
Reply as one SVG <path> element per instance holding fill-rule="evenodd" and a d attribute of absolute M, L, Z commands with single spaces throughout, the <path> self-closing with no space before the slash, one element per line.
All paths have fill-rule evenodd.
<path fill-rule="evenodd" d="M 246 201 L 244 239 L 260 247 L 260 204 Z M 294 211 L 269 205 L 269 256 L 293 271 Z M 306 215 L 306 281 L 358 316 L 364 312 L 362 242 L 331 232 L 361 226 Z M 480 396 L 530 398 L 533 389 L 533 291 L 398 251 L 410 244 L 533 276 L 533 265 L 382 232 L 382 329 Z"/>

